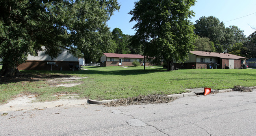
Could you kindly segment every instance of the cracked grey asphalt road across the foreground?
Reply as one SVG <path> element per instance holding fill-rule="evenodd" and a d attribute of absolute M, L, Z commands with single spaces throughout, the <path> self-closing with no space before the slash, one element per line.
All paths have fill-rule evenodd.
<path fill-rule="evenodd" d="M 256 89 L 167 104 L 0 112 L 0 135 L 256 135 Z"/>

